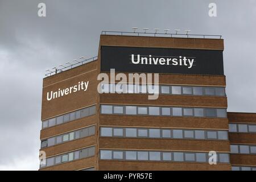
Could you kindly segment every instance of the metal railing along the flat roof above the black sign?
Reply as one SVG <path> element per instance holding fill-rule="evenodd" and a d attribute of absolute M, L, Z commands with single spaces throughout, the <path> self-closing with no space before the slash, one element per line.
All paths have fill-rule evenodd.
<path fill-rule="evenodd" d="M 157 32 L 122 32 L 122 31 L 101 31 L 101 35 L 130 35 L 130 36 L 163 36 L 170 38 L 219 38 L 222 35 L 207 35 L 207 34 L 169 34 L 169 33 L 157 33 Z"/>

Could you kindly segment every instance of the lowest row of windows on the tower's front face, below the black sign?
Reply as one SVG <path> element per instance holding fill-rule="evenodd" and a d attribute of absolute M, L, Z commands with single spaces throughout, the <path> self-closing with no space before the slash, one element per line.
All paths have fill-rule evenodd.
<path fill-rule="evenodd" d="M 167 151 L 123 151 L 100 150 L 100 159 L 106 160 L 153 160 L 165 162 L 208 162 L 205 152 L 167 152 Z M 217 162 L 229 163 L 229 154 L 217 154 Z"/>

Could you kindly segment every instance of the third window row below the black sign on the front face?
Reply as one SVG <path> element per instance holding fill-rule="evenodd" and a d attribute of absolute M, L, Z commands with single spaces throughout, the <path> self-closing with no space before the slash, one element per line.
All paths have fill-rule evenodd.
<path fill-rule="evenodd" d="M 228 131 L 146 129 L 131 127 L 101 127 L 101 137 L 219 139 L 228 140 Z"/>

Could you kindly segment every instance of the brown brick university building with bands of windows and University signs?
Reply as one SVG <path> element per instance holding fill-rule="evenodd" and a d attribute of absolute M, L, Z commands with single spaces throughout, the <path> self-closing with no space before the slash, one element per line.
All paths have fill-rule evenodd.
<path fill-rule="evenodd" d="M 223 51 L 217 37 L 105 32 L 97 57 L 43 79 L 39 170 L 256 170 L 256 114 L 227 113 Z M 108 93 L 110 69 L 159 73 L 158 98 L 139 82 Z"/>

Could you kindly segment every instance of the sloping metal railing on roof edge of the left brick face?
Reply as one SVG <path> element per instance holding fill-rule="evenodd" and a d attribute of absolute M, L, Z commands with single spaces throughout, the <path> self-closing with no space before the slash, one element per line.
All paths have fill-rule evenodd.
<path fill-rule="evenodd" d="M 78 67 L 78 66 L 86 64 L 86 63 L 90 63 L 90 62 L 95 61 L 97 59 L 98 59 L 98 56 L 94 56 L 94 57 L 90 57 L 89 59 L 84 59 L 82 61 L 77 61 L 76 60 L 75 64 L 69 63 L 69 66 L 67 66 L 67 67 L 65 67 L 64 65 L 60 65 L 63 68 L 56 68 L 56 67 L 54 67 L 54 68 L 52 68 L 53 71 L 50 71 L 48 69 L 47 71 L 49 73 L 47 73 L 45 76 L 48 77 L 48 76 L 56 75 L 57 73 L 61 73 L 61 72 L 67 71 L 68 69 L 75 68 L 75 67 Z"/>

